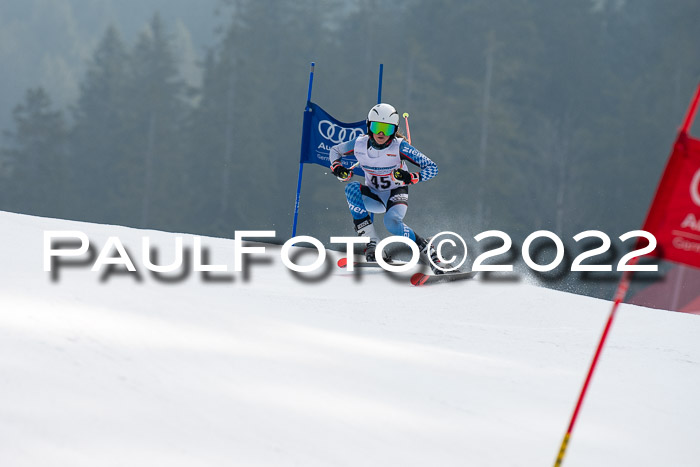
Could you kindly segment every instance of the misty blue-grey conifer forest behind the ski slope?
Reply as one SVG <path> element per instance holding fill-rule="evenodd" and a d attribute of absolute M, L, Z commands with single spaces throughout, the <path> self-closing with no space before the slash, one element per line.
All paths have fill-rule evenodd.
<path fill-rule="evenodd" d="M 383 100 L 440 167 L 411 189 L 419 233 L 615 240 L 700 81 L 698 18 L 696 0 L 4 0 L 0 209 L 284 240 L 310 62 L 312 100 L 348 122 L 383 63 Z M 343 188 L 308 167 L 298 233 L 352 235 Z M 549 283 L 609 298 L 578 279 Z"/>

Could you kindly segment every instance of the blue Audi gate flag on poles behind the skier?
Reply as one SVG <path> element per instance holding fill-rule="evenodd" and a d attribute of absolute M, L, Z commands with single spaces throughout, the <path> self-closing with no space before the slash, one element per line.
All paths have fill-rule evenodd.
<path fill-rule="evenodd" d="M 304 127 L 301 139 L 302 164 L 319 164 L 330 167 L 329 153 L 336 144 L 353 140 L 365 134 L 367 124 L 364 120 L 355 123 L 343 123 L 333 118 L 313 102 L 309 102 L 304 112 Z M 357 159 L 355 156 L 343 157 L 343 165 L 350 167 Z M 355 175 L 364 177 L 365 173 L 358 166 L 353 169 Z"/>

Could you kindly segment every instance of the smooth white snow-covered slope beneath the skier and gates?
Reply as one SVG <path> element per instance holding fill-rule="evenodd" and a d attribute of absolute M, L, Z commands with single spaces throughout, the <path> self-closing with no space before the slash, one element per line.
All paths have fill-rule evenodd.
<path fill-rule="evenodd" d="M 610 305 L 379 271 L 305 281 L 277 247 L 248 280 L 53 282 L 44 230 L 98 251 L 118 236 L 136 259 L 149 235 L 160 263 L 175 234 L 0 221 L 3 467 L 552 465 Z M 232 265 L 233 242 L 203 244 Z M 698 316 L 623 306 L 566 467 L 700 465 L 699 336 Z"/>

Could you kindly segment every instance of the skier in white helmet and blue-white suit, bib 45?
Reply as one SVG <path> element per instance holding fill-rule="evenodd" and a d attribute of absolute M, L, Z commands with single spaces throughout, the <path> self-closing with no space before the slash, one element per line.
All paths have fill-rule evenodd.
<path fill-rule="evenodd" d="M 408 144 L 399 129 L 399 114 L 389 104 L 377 104 L 367 115 L 367 134 L 333 146 L 330 163 L 333 175 L 341 182 L 349 181 L 352 170 L 343 167 L 344 156 L 355 156 L 365 172 L 365 183 L 351 182 L 345 188 L 350 214 L 358 235 L 369 237 L 365 259 L 376 261 L 375 250 L 379 237 L 369 212 L 384 213 L 384 226 L 392 235 L 408 237 L 418 245 L 434 274 L 442 274 L 440 260 L 429 240 L 419 236 L 403 222 L 408 209 L 408 186 L 435 177 L 435 162 Z M 420 172 L 409 172 L 407 162 L 420 167 Z M 384 259 L 388 259 L 384 256 Z"/>

